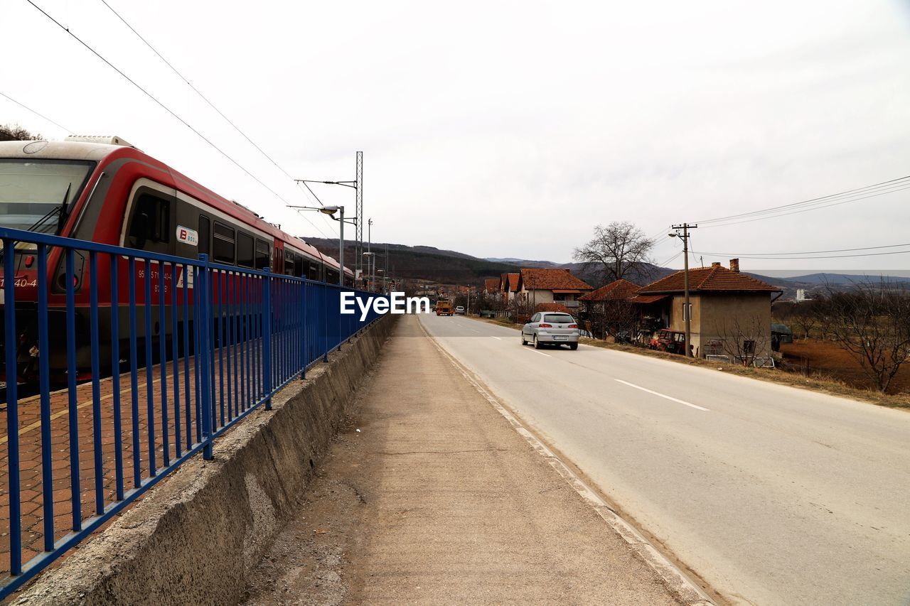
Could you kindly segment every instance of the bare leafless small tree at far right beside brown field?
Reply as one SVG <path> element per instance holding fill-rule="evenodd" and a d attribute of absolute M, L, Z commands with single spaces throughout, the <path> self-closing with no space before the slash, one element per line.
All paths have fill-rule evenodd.
<path fill-rule="evenodd" d="M 855 359 L 875 388 L 885 392 L 910 361 L 910 292 L 882 280 L 849 291 L 828 288 L 817 313 L 827 333 Z"/>

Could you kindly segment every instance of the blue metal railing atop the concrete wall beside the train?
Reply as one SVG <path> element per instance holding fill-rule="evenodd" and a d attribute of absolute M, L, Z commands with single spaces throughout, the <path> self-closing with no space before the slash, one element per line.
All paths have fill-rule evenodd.
<path fill-rule="evenodd" d="M 5 227 L 0 240 L 9 540 L 0 599 L 185 460 L 211 459 L 217 436 L 270 409 L 278 389 L 378 318 L 340 313 L 341 292 L 371 293 L 206 255 Z M 57 382 L 64 389 L 53 391 Z M 20 399 L 20 389 L 35 395 Z"/>

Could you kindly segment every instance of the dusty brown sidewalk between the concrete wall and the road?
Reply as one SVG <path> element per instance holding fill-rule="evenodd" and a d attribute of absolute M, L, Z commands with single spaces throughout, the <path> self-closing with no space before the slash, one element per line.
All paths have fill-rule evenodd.
<path fill-rule="evenodd" d="M 679 603 L 417 318 L 359 399 L 248 603 Z"/>

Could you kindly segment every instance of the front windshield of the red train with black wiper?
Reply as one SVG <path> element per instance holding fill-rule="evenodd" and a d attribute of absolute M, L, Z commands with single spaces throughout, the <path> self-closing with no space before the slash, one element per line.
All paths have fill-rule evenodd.
<path fill-rule="evenodd" d="M 94 162 L 0 159 L 0 226 L 56 234 Z"/>

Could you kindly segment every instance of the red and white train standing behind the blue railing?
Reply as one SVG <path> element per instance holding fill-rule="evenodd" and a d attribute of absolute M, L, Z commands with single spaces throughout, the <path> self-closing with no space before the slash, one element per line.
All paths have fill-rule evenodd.
<path fill-rule="evenodd" d="M 248 207 L 218 196 L 116 136 L 67 137 L 60 142 L 0 142 L 0 226 L 181 258 L 197 259 L 200 253 L 206 253 L 219 264 L 269 268 L 273 273 L 329 284 L 338 284 L 342 270 L 334 258 L 320 254 L 315 247 L 288 235 Z M 23 243 L 17 246 L 15 255 L 19 333 L 16 342 L 19 358 L 25 362 L 36 338 L 34 321 L 28 318 L 31 311 L 34 319 L 37 300 L 34 251 L 34 245 Z M 59 338 L 66 334 L 63 252 L 52 249 L 47 261 L 51 281 L 48 318 L 52 337 Z M 120 306 L 126 303 L 123 293 L 127 274 L 123 261 L 118 264 Z M 76 359 L 80 375 L 90 371 L 89 339 L 85 338 L 89 293 L 84 277 L 89 278 L 88 265 L 87 256 L 77 256 Z M 345 284 L 353 286 L 353 273 L 348 268 L 343 271 Z M 99 328 L 109 334 L 109 259 L 101 262 L 99 257 L 97 284 L 102 316 Z M 155 288 L 157 293 L 157 284 Z M 166 284 L 166 305 L 170 298 L 167 288 L 169 284 Z M 142 290 L 142 281 L 137 279 L 137 298 L 140 303 L 148 304 L 142 313 L 156 314 L 157 320 L 158 297 L 146 302 Z M 167 312 L 167 326 L 159 327 L 156 321 L 156 337 L 162 330 L 169 337 L 173 312 L 177 310 Z M 123 309 L 119 316 L 122 325 Z M 128 332 L 121 330 L 120 335 L 124 337 Z M 12 344 L 9 338 L 4 341 L 6 347 Z M 104 354 L 101 359 L 105 359 Z M 50 360 L 52 372 L 64 371 L 65 348 L 52 343 Z"/>

